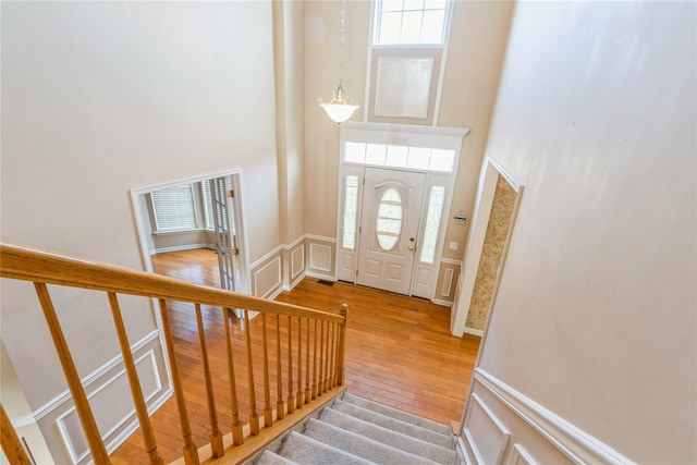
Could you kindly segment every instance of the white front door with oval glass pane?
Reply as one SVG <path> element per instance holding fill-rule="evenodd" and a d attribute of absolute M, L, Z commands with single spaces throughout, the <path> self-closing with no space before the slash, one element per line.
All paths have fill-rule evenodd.
<path fill-rule="evenodd" d="M 425 173 L 365 169 L 356 282 L 408 294 Z"/>

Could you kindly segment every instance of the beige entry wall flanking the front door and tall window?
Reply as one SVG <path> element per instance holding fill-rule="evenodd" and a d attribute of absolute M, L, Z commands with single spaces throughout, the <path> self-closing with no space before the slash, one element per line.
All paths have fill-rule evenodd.
<path fill-rule="evenodd" d="M 369 1 L 346 3 L 344 89 L 360 105 L 352 121 L 363 121 L 369 24 Z M 450 218 L 460 210 L 472 216 L 477 176 L 484 157 L 499 74 L 508 38 L 511 2 L 456 1 L 448 49 L 438 124 L 469 127 L 455 181 Z M 339 178 L 339 130 L 317 105 L 328 100 L 339 84 L 340 2 L 310 1 L 305 5 L 305 102 L 306 102 L 306 232 L 334 237 Z M 311 206 L 311 208 L 310 208 Z M 457 250 L 444 250 L 447 258 L 461 260 L 468 225 L 449 222 L 445 244 L 460 243 Z"/>

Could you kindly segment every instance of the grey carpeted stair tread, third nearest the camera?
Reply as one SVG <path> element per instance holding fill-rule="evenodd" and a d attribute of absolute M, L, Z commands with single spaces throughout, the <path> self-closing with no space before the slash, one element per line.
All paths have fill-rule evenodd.
<path fill-rule="evenodd" d="M 340 449 L 377 464 L 399 463 L 401 465 L 433 464 L 428 458 L 404 452 L 391 445 L 380 443 L 365 436 L 338 428 L 333 425 L 310 418 L 305 426 L 305 436 L 325 444 Z"/>

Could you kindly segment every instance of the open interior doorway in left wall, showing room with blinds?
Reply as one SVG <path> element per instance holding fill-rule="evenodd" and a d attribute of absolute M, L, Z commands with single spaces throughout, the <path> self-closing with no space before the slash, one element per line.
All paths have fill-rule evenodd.
<path fill-rule="evenodd" d="M 240 171 L 134 188 L 131 198 L 144 267 L 158 253 L 210 248 L 220 286 L 249 292 Z"/>

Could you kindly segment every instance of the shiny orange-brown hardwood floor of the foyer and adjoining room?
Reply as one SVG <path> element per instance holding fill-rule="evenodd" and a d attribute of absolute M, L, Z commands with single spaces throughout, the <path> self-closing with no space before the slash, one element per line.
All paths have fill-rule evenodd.
<path fill-rule="evenodd" d="M 162 274 L 219 285 L 218 261 L 212 250 L 159 254 L 152 257 L 152 265 L 155 271 Z M 452 336 L 449 307 L 343 282 L 326 285 L 313 278 L 304 279 L 291 292 L 283 292 L 277 301 L 332 313 L 339 313 L 343 303 L 350 305 L 345 357 L 350 392 L 440 423 L 460 419 L 479 338 Z M 204 310 L 213 375 L 224 379 L 222 314 L 219 309 Z M 180 375 L 183 379 L 199 378 L 195 317 L 183 305 L 171 305 L 170 311 Z M 258 320 L 260 318 L 252 320 L 253 329 L 259 325 Z M 233 330 L 234 325 L 242 322 L 236 320 Z M 185 391 L 192 435 L 200 446 L 209 442 L 205 388 L 203 382 L 185 382 Z M 230 403 L 222 391 L 216 396 L 220 396 L 218 415 L 224 433 L 229 431 L 231 417 L 227 413 Z M 244 421 L 247 412 L 248 406 L 241 405 Z M 179 458 L 182 440 L 174 400 L 169 400 L 151 418 L 162 458 L 166 462 Z M 114 451 L 111 458 L 114 464 L 147 463 L 139 431 Z"/>

